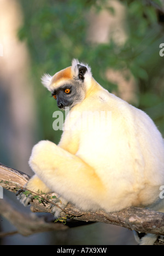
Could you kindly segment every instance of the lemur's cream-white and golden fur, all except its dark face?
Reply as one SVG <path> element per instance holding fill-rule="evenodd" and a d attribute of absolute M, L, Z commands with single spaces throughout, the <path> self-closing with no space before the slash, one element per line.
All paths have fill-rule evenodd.
<path fill-rule="evenodd" d="M 83 82 L 78 80 L 78 64 L 87 68 Z M 148 115 L 110 94 L 93 79 L 90 67 L 78 60 L 52 77 L 44 75 L 42 82 L 51 92 L 63 84 L 75 86 L 75 82 L 79 93 L 83 91 L 83 100 L 72 107 L 65 125 L 69 121 L 70 127 L 78 127 L 84 111 L 104 111 L 111 113 L 111 129 L 68 129 L 58 146 L 39 142 L 29 161 L 37 176 L 27 188 L 55 191 L 86 211 L 153 205 L 163 211 L 159 188 L 164 185 L 164 143 Z"/>

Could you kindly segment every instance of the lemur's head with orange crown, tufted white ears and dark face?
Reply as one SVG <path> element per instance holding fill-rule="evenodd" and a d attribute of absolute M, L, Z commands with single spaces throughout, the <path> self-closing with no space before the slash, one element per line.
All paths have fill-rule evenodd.
<path fill-rule="evenodd" d="M 86 91 L 91 84 L 91 68 L 78 60 L 72 61 L 72 66 L 62 69 L 52 77 L 44 74 L 42 84 L 57 100 L 57 106 L 73 107 L 84 100 Z"/>

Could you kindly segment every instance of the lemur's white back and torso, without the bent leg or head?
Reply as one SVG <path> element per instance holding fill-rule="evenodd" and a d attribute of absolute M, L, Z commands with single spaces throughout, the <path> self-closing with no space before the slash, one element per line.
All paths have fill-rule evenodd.
<path fill-rule="evenodd" d="M 99 92 L 92 94 L 88 130 L 80 132 L 76 155 L 95 168 L 110 196 L 119 197 L 116 190 L 120 191 L 120 203 L 125 195 L 133 205 L 149 205 L 159 199 L 164 184 L 163 138 L 147 114 L 103 90 L 101 97 Z M 82 112 L 83 104 L 75 110 Z M 105 112 L 106 118 L 101 120 L 96 111 Z M 101 126 L 96 125 L 97 117 Z M 90 129 L 92 121 L 95 125 Z"/>

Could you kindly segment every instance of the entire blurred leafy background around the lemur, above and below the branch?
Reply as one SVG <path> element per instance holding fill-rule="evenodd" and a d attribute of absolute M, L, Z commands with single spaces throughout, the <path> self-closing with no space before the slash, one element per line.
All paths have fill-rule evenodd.
<path fill-rule="evenodd" d="M 25 165 L 27 165 L 33 144 L 40 139 L 49 139 L 58 143 L 61 131 L 52 129 L 52 113 L 58 110 L 56 101 L 51 97 L 50 92 L 43 88 L 40 77 L 44 73 L 53 75 L 57 71 L 71 66 L 73 58 L 88 63 L 97 82 L 109 92 L 114 92 L 120 97 L 122 97 L 119 92 L 121 84 L 117 82 L 117 79 L 110 79 L 107 71 L 112 69 L 116 76 L 117 74 L 123 75 L 127 82 L 127 90 L 130 89 L 128 83 L 130 74 L 133 77 L 133 84 L 136 86 L 134 96 L 137 100 L 129 98 L 128 101 L 147 112 L 164 135 L 164 57 L 159 55 L 159 45 L 164 43 L 164 18 L 163 12 L 156 8 L 156 4 L 161 8 L 160 0 L 114 1 L 120 3 L 125 9 L 125 20 L 122 26 L 126 33 L 126 40 L 122 43 L 114 39 L 113 32 L 108 34 L 108 40 L 105 42 L 89 40 L 89 26 L 93 12 L 95 15 L 99 15 L 106 10 L 110 16 L 116 15 L 117 10 L 111 0 L 13 0 L 10 3 L 9 0 L 3 0 L 2 2 L 15 3 L 14 8 L 21 8 L 22 22 L 21 26 L 16 29 L 16 37 L 19 42 L 26 44 L 28 57 L 30 57 L 28 77 L 35 103 L 30 114 L 35 114 L 36 123 L 33 127 L 30 121 L 27 122 L 30 124 L 30 132 L 27 133 L 27 129 L 22 131 L 21 122 L 19 123 L 15 119 L 17 116 L 13 117 L 13 106 L 17 106 L 16 111 L 19 112 L 21 120 L 25 119 L 26 121 L 27 119 L 21 112 L 22 108 L 28 108 L 28 104 L 24 103 L 27 98 L 27 91 L 24 89 L 27 86 L 19 82 L 19 90 L 22 88 L 22 94 L 19 94 L 18 89 L 16 91 L 16 85 L 14 85 L 15 88 L 11 88 L 15 76 L 11 75 L 9 71 L 4 76 L 5 72 L 2 72 L 5 51 L 7 53 L 7 49 L 5 49 L 4 57 L 0 59 L 1 162 L 26 172 Z M 154 5 L 149 5 L 148 2 L 153 2 Z M 10 10 L 9 5 L 7 10 Z M 2 16 L 3 13 L 0 15 L 0 31 L 1 26 L 4 26 L 1 23 Z M 8 19 L 10 18 L 8 17 Z M 20 17 L 18 16 L 17 19 Z M 7 20 L 5 21 L 7 22 Z M 97 36 L 101 37 L 101 34 L 98 33 L 97 28 Z M 0 34 L 0 43 L 1 36 Z M 7 36 L 9 37 L 9 35 Z M 13 43 L 14 41 L 11 42 L 11 44 Z M 10 58 L 10 61 L 16 65 L 18 57 L 12 53 Z M 17 95 L 15 100 L 12 96 L 14 90 Z M 26 126 L 28 125 L 26 124 Z M 19 141 L 20 135 L 23 139 Z M 26 135 L 30 137 L 26 137 Z M 13 144 L 13 138 L 17 144 Z M 23 158 L 22 155 L 27 142 L 30 141 L 29 138 L 32 138 L 32 142 Z M 22 147 L 19 148 L 19 146 Z M 28 168 L 27 172 L 30 172 Z M 4 191 L 4 194 L 16 204 L 15 197 L 10 195 L 11 193 Z M 20 207 L 20 203 L 17 202 L 17 208 Z M 30 212 L 24 207 L 21 207 L 21 211 Z M 2 231 L 15 230 L 4 218 L 0 220 Z M 6 237 L 2 240 L 0 238 L 0 243 L 2 245 L 129 245 L 135 242 L 131 231 L 97 223 L 69 229 L 65 233 L 59 231 L 36 234 L 28 238 L 20 235 Z"/>

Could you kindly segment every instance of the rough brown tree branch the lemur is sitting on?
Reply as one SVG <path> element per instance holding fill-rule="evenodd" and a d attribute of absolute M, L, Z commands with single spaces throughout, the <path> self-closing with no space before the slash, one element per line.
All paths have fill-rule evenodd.
<path fill-rule="evenodd" d="M 30 177 L 25 173 L 0 164 L 0 185 L 4 189 L 16 193 L 17 190 L 27 183 L 29 178 Z M 54 195 L 54 193 L 50 194 L 50 196 L 52 195 Z M 31 211 L 51 213 L 50 206 L 50 202 L 39 203 L 38 200 L 33 200 L 31 203 Z M 3 211 L 3 200 L 1 200 L 0 213 Z M 85 222 L 103 222 L 123 226 L 130 230 L 164 235 L 164 214 L 145 208 L 129 207 L 119 212 L 112 213 L 106 213 L 104 211 L 83 212 L 69 203 L 67 207 L 65 207 L 65 212 L 62 212 L 61 217 L 66 217 L 66 212 L 70 216 L 73 216 L 74 219 L 83 220 Z M 28 219 L 27 222 L 29 225 L 32 220 Z"/>

